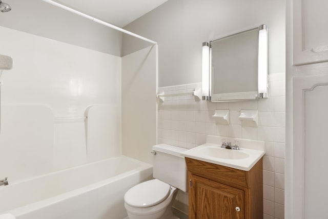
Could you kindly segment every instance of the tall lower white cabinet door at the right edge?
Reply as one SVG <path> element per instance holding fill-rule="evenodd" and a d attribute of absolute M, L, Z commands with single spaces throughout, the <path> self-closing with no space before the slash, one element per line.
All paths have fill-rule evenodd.
<path fill-rule="evenodd" d="M 293 218 L 328 218 L 327 140 L 328 75 L 294 77 Z"/>

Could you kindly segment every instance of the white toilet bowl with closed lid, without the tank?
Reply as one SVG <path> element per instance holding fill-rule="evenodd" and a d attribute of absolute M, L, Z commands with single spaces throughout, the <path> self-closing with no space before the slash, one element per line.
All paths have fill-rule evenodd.
<path fill-rule="evenodd" d="M 129 219 L 157 219 L 173 216 L 171 207 L 177 189 L 159 180 L 150 180 L 132 187 L 124 197 Z"/>

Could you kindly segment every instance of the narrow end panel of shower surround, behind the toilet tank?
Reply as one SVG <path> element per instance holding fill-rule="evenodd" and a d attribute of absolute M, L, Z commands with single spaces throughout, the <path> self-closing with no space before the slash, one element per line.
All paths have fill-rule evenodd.
<path fill-rule="evenodd" d="M 156 145 L 156 46 L 122 57 L 122 154 L 153 164 Z"/>

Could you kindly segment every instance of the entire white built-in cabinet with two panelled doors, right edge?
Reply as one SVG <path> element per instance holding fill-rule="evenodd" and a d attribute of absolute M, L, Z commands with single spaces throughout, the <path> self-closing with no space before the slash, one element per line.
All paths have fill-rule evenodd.
<path fill-rule="evenodd" d="M 328 219 L 328 1 L 285 2 L 285 215 Z"/>

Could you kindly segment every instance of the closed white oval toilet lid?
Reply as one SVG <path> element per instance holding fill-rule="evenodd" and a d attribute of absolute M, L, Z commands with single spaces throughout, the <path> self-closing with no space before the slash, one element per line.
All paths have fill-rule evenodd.
<path fill-rule="evenodd" d="M 124 201 L 139 208 L 157 205 L 168 197 L 170 187 L 157 179 L 146 181 L 129 189 L 124 195 Z"/>

